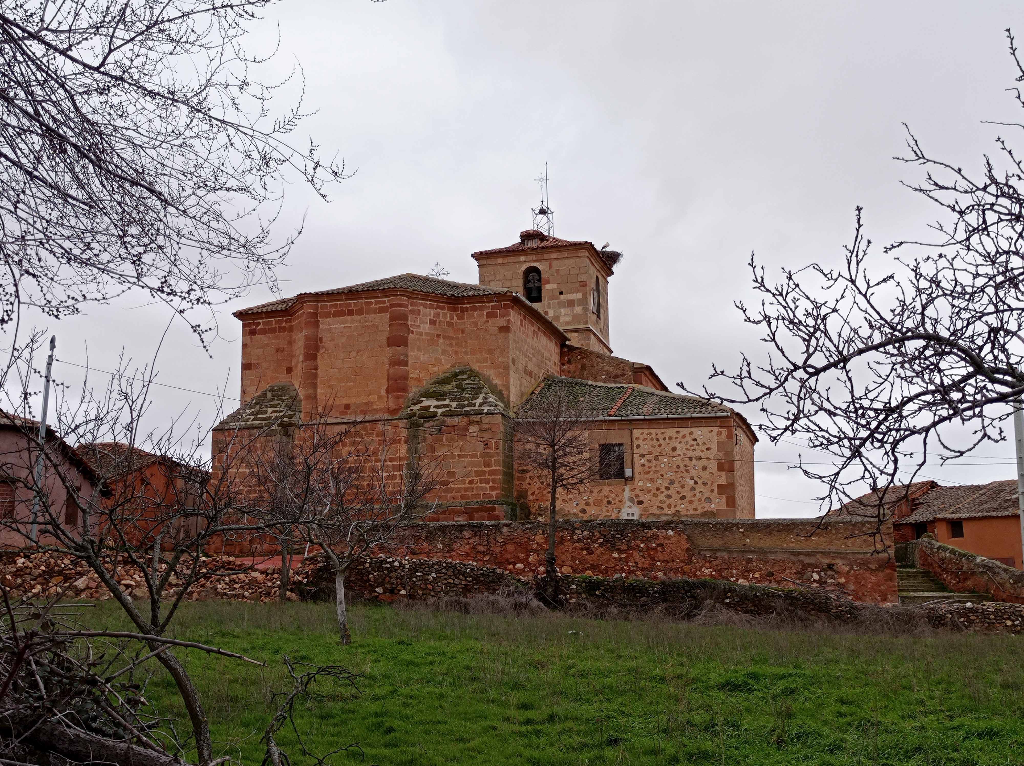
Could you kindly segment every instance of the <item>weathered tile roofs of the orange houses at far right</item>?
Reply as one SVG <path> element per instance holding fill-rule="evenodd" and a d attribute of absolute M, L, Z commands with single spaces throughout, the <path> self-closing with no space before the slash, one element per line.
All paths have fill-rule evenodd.
<path fill-rule="evenodd" d="M 936 519 L 993 518 L 1019 513 L 1016 479 L 964 486 L 941 486 L 936 481 L 919 481 L 909 487 L 902 484 L 890 487 L 884 494 L 882 507 L 888 515 L 904 500 L 909 500 L 910 513 L 893 518 L 895 524 L 920 524 Z M 878 518 L 879 505 L 879 495 L 867 493 L 825 515 L 836 520 Z"/>

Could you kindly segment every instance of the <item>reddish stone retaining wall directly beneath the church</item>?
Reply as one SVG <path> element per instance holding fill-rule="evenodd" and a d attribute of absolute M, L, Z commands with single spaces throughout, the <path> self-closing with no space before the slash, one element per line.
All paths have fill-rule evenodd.
<path fill-rule="evenodd" d="M 561 572 L 652 580 L 708 578 L 740 585 L 831 587 L 857 601 L 895 603 L 896 566 L 873 554 L 867 522 L 688 519 L 561 521 Z M 891 529 L 887 530 L 891 537 Z M 542 522 L 422 523 L 398 555 L 451 558 L 517 574 L 542 573 Z"/>

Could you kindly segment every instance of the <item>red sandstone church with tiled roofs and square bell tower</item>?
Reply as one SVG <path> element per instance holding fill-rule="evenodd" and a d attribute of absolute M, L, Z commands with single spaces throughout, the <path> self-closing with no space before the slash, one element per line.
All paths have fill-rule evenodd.
<path fill-rule="evenodd" d="M 444 477 L 435 520 L 543 517 L 544 477 L 517 468 L 514 423 L 567 393 L 599 468 L 559 496 L 561 516 L 754 518 L 746 420 L 612 354 L 618 253 L 528 229 L 472 257 L 476 285 L 404 273 L 236 311 L 244 403 L 217 426 L 215 472 L 228 434 L 289 411 L 299 427 L 376 424 L 410 455 L 428 448 Z M 675 322 L 666 343 L 681 342 Z"/>

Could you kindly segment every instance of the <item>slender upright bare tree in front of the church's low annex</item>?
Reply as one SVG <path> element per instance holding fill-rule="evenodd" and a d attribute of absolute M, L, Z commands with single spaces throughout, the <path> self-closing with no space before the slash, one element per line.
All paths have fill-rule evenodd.
<path fill-rule="evenodd" d="M 545 594 L 558 600 L 555 536 L 558 493 L 583 490 L 597 477 L 598 460 L 590 442 L 590 418 L 580 395 L 546 381 L 516 413 L 515 456 L 520 472 L 537 471 L 548 490 L 548 550 L 544 556 Z"/>

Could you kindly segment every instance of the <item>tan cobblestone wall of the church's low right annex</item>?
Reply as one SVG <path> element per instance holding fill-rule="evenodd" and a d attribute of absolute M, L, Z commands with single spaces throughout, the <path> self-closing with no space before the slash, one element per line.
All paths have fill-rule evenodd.
<path fill-rule="evenodd" d="M 633 478 L 595 480 L 582 492 L 560 493 L 563 517 L 611 519 L 632 511 L 641 519 L 754 518 L 754 446 L 745 432 L 743 443 L 735 444 L 731 418 L 609 421 L 595 429 L 595 442 L 602 440 L 599 431 L 620 435 Z M 526 503 L 529 518 L 545 517 L 543 475 L 518 472 L 516 482 L 516 498 Z"/>

